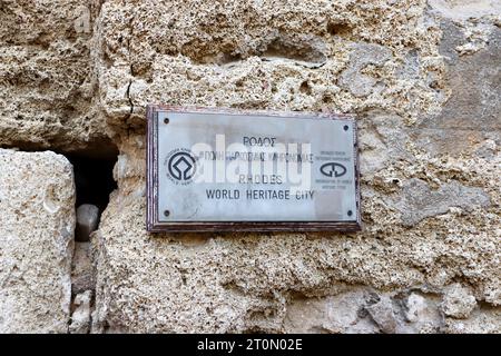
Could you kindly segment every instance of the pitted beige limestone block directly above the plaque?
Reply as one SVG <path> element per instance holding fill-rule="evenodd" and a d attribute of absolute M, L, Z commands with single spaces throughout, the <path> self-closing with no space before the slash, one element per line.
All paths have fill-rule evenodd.
<path fill-rule="evenodd" d="M 151 101 L 436 112 L 445 96 L 428 77 L 442 85 L 444 61 L 425 9 L 422 0 L 106 1 L 97 20 L 101 103 L 116 129 L 144 127 Z M 360 78 L 365 89 L 351 88 Z"/>

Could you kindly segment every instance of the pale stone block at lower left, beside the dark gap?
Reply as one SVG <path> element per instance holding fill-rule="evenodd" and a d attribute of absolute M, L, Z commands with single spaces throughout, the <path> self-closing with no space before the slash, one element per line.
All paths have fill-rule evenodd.
<path fill-rule="evenodd" d="M 75 187 L 53 152 L 0 149 L 0 333 L 67 333 Z"/>

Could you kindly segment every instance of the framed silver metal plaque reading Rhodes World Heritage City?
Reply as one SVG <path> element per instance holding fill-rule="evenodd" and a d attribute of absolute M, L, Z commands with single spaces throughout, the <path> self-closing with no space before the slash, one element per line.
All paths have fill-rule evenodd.
<path fill-rule="evenodd" d="M 355 120 L 149 106 L 149 231 L 358 230 Z"/>

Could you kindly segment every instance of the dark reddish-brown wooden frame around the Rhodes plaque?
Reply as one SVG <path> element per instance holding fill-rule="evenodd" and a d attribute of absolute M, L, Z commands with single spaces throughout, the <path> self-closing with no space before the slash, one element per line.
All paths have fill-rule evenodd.
<path fill-rule="evenodd" d="M 356 211 L 350 221 L 159 221 L 158 218 L 158 112 L 195 112 L 195 113 L 224 113 L 224 115 L 259 115 L 266 117 L 295 117 L 305 119 L 330 118 L 336 120 L 350 120 L 355 123 L 351 115 L 314 113 L 314 112 L 279 112 L 236 110 L 222 108 L 193 108 L 164 105 L 147 106 L 147 144 L 146 144 L 146 170 L 147 170 L 147 211 L 146 227 L 150 233 L 188 233 L 188 231 L 357 231 L 361 230 L 361 197 L 360 197 L 360 169 L 358 144 L 356 126 L 353 125 L 354 135 L 354 172 L 355 172 L 355 200 Z"/>

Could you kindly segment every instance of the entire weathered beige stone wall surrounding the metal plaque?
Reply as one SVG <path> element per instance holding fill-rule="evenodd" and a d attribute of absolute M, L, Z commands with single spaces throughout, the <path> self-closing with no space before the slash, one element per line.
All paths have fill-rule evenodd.
<path fill-rule="evenodd" d="M 0 330 L 501 333 L 499 0 L 0 0 Z M 363 230 L 147 234 L 147 103 L 356 113 Z M 68 164 L 12 149 L 115 147 L 68 270 Z M 40 267 L 32 236 L 59 246 Z M 55 290 L 32 284 L 62 310 L 40 316 Z"/>

